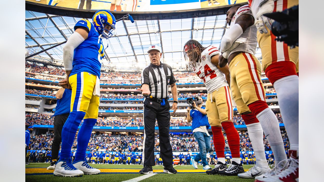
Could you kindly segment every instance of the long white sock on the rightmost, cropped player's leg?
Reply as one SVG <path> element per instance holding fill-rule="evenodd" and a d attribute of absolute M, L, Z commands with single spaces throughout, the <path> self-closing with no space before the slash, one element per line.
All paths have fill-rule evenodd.
<path fill-rule="evenodd" d="M 284 121 L 284 127 L 290 142 L 290 149 L 296 150 L 298 154 L 298 76 L 290 75 L 274 82 L 276 89 L 281 116 Z"/>

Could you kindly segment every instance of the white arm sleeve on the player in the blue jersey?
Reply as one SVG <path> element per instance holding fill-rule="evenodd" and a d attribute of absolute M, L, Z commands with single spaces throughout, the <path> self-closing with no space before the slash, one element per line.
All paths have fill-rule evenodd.
<path fill-rule="evenodd" d="M 74 49 L 77 48 L 85 39 L 78 32 L 74 32 L 63 47 L 63 63 L 65 70 L 72 70 Z"/>

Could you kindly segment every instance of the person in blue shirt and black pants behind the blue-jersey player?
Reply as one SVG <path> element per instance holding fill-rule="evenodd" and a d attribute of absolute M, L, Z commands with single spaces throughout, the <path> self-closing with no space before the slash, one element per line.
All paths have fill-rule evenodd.
<path fill-rule="evenodd" d="M 70 115 L 70 105 L 71 105 L 71 94 L 72 91 L 67 88 L 61 87 L 56 92 L 56 107 L 55 107 L 55 113 L 54 113 L 54 138 L 52 143 L 52 158 L 51 158 L 51 164 L 47 167 L 47 170 L 54 170 L 55 165 L 58 160 L 58 154 L 60 150 L 60 145 L 62 142 L 61 134 L 62 134 L 62 128 L 66 121 L 66 119 Z"/>

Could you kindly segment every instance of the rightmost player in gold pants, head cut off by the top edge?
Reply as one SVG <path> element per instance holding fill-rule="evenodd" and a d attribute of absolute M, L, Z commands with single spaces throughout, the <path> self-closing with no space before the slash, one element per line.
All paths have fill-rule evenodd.
<path fill-rule="evenodd" d="M 272 20 L 265 13 L 281 12 L 298 5 L 298 0 L 249 0 L 255 25 L 258 28 L 258 43 L 262 53 L 262 67 L 276 89 L 280 112 L 290 142 L 289 167 L 276 167 L 255 179 L 259 181 L 296 181 L 299 176 L 298 159 L 298 47 L 290 49 L 284 42 L 274 40 L 271 31 Z M 272 176 L 275 174 L 274 176 Z M 271 176 L 271 177 L 270 177 Z M 268 178 L 269 177 L 269 178 Z"/>

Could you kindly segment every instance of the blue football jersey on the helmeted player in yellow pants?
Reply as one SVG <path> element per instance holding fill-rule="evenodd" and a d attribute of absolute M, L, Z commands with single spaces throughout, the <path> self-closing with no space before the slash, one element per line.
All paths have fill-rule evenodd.
<path fill-rule="evenodd" d="M 88 38 L 74 50 L 73 69 L 70 75 L 88 72 L 99 77 L 101 62 L 105 56 L 102 40 L 99 38 L 100 34 L 93 24 L 86 19 L 79 20 L 75 24 L 74 30 L 79 27 L 87 28 L 89 34 Z"/>

